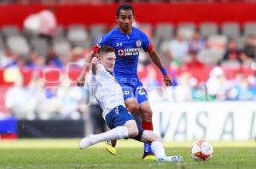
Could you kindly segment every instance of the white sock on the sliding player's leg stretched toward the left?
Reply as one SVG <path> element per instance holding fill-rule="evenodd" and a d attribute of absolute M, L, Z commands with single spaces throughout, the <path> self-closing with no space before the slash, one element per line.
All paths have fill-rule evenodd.
<path fill-rule="evenodd" d="M 115 140 L 121 138 L 128 138 L 128 128 L 127 127 L 115 127 L 108 132 L 102 132 L 100 134 L 92 135 L 94 144 L 107 141 L 107 140 Z"/>

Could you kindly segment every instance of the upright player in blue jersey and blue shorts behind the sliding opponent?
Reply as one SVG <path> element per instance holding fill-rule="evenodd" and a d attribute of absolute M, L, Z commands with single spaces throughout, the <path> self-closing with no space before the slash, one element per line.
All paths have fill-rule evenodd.
<path fill-rule="evenodd" d="M 122 4 L 116 9 L 116 21 L 118 27 L 109 31 L 92 49 L 86 57 L 84 68 L 78 78 L 77 85 L 84 86 L 85 73 L 89 70 L 88 63 L 102 45 L 108 45 L 115 49 L 116 63 L 114 76 L 123 89 L 125 106 L 131 113 L 142 117 L 142 127 L 145 130 L 153 130 L 152 110 L 148 103 L 148 95 L 137 76 L 137 64 L 140 51 L 148 52 L 149 57 L 161 70 L 166 86 L 172 85 L 171 77 L 164 68 L 159 54 L 155 51 L 147 35 L 143 31 L 132 26 L 134 21 L 134 9 L 130 4 Z M 150 143 L 144 144 L 143 159 L 154 158 Z"/>

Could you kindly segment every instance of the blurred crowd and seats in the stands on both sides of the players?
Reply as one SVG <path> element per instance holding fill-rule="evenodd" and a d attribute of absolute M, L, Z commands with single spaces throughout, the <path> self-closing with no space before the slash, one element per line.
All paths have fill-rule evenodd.
<path fill-rule="evenodd" d="M 84 64 L 84 56 L 97 39 L 113 26 L 69 25 L 55 20 L 54 8 L 32 14 L 24 20 L 24 29 L 5 25 L 0 31 L 0 68 L 7 82 L 14 86 L 4 90 L 0 102 L 19 119 L 79 119 L 90 109 L 88 88 L 75 87 L 68 76 L 48 86 L 44 76 L 34 73 L 24 83 L 20 70 L 65 70 L 72 63 Z M 44 25 L 44 26 L 42 26 Z M 143 30 L 160 54 L 174 79 L 174 86 L 164 87 L 157 69 L 144 53 L 138 70 L 147 72 L 142 81 L 150 101 L 256 100 L 256 23 L 241 27 L 237 23 L 135 23 Z M 44 29 L 42 29 L 44 28 Z M 190 70 L 211 68 L 205 79 Z M 226 69 L 248 70 L 226 76 Z M 177 74 L 178 70 L 183 70 Z M 93 101 L 92 101 L 93 102 Z"/>

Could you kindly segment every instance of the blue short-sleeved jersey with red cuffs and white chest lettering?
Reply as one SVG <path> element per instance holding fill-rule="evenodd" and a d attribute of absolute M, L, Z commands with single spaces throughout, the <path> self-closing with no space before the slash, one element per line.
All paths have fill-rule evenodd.
<path fill-rule="evenodd" d="M 132 27 L 131 34 L 126 35 L 119 27 L 109 31 L 97 43 L 97 48 L 108 45 L 115 48 L 116 62 L 114 65 L 114 76 L 120 83 L 137 83 L 137 63 L 140 51 L 150 52 L 152 45 L 143 31 Z"/>

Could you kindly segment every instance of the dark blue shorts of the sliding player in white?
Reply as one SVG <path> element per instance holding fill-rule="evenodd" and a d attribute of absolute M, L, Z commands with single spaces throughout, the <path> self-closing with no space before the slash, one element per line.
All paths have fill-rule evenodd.
<path fill-rule="evenodd" d="M 124 106 L 119 105 L 111 110 L 105 117 L 108 127 L 113 129 L 114 127 L 124 126 L 126 121 L 134 120 L 137 123 L 139 134 L 133 139 L 141 141 L 144 129 L 137 116 L 131 115 L 131 113 L 125 109 Z"/>

